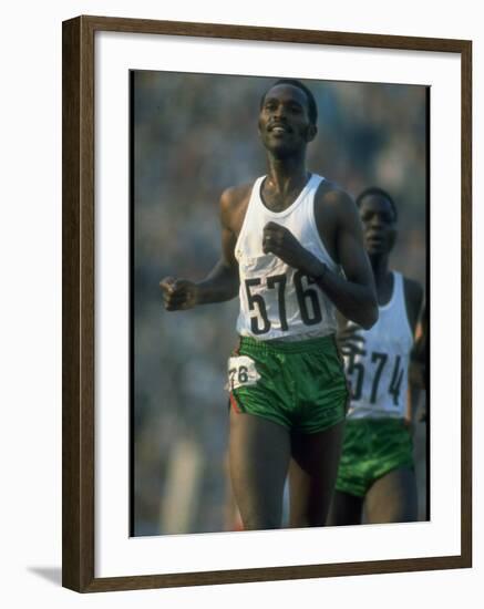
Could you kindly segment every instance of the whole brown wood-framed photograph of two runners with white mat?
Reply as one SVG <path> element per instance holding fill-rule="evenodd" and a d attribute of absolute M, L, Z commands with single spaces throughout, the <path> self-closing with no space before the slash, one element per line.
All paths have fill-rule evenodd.
<path fill-rule="evenodd" d="M 63 586 L 91 592 L 471 567 L 472 43 L 78 17 L 63 23 L 62 109 Z M 298 176 L 306 182 L 279 199 L 275 177 L 282 184 L 288 167 L 294 184 Z M 368 244 L 381 249 L 383 234 L 360 233 L 370 223 L 367 196 L 391 209 L 390 245 L 380 258 Z M 321 206 L 333 205 L 338 219 L 311 210 L 317 245 L 307 237 L 308 255 L 299 244 L 296 264 L 286 209 L 306 213 L 316 197 L 334 202 Z M 256 205 L 275 221 L 264 227 L 264 255 L 246 264 L 250 239 L 245 246 L 241 235 L 244 223 L 258 221 L 247 211 Z M 351 249 L 353 241 L 338 235 L 351 233 L 358 214 Z M 339 228 L 321 233 L 320 223 L 332 221 Z M 390 250 L 388 300 L 401 285 L 406 319 L 395 322 L 395 333 L 410 333 L 404 361 L 418 360 L 415 370 L 377 347 L 370 357 L 367 334 L 369 363 L 333 339 L 334 308 L 360 329 L 375 323 L 372 310 L 381 319 L 387 304 L 380 291 L 378 302 L 363 299 L 364 281 L 354 279 L 354 310 L 333 290 L 351 283 L 353 272 L 363 269 L 364 277 L 365 265 L 377 273 L 374 260 L 387 265 Z M 288 280 L 275 275 L 268 256 L 299 270 Z M 224 279 L 216 291 L 236 260 L 243 287 Z M 260 260 L 272 269 L 267 289 L 277 306 L 257 291 Z M 401 276 L 412 281 L 400 283 Z M 414 314 L 408 285 L 420 285 Z M 289 336 L 298 323 L 303 331 Z M 271 357 L 291 379 L 300 344 L 292 339 L 311 343 L 317 358 L 331 342 L 331 382 L 339 373 L 344 380 L 344 364 L 346 414 L 331 424 L 301 411 L 294 431 L 294 413 L 287 423 L 275 419 L 281 411 L 256 412 L 255 401 L 247 411 L 285 430 L 290 446 L 281 454 L 297 464 L 300 429 L 315 446 L 327 434 L 320 455 L 338 481 L 328 474 L 319 519 L 295 516 L 301 502 L 294 489 L 303 488 L 292 486 L 297 473 L 289 491 L 280 477 L 276 510 L 269 499 L 257 517 L 248 507 L 253 478 L 238 473 L 255 443 L 240 432 L 234 448 L 239 432 L 231 419 L 244 420 L 249 407 L 235 389 L 261 383 L 260 369 L 240 351 L 250 341 L 259 349 L 253 334 L 286 350 Z M 301 370 L 300 386 L 309 391 Z M 410 417 L 413 516 L 372 517 L 364 493 L 382 478 L 379 471 L 357 493 L 361 520 L 333 522 L 343 462 L 339 448 L 325 452 L 333 442 L 328 430 L 342 430 L 346 416 L 348 427 L 367 385 L 370 405 L 380 404 L 384 389 L 384 403 L 403 409 L 410 378 L 416 381 L 409 388 L 420 389 Z M 391 417 L 403 422 L 403 414 Z M 264 437 L 267 447 L 276 436 Z M 269 488 L 278 457 L 267 454 L 251 472 L 264 472 Z"/>

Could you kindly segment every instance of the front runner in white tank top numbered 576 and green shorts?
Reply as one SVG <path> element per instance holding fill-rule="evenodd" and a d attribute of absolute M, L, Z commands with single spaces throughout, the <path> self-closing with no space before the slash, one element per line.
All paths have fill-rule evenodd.
<path fill-rule="evenodd" d="M 354 203 L 306 167 L 317 115 L 298 81 L 265 92 L 266 178 L 223 193 L 222 257 L 203 281 L 161 281 L 168 311 L 240 295 L 245 353 L 229 360 L 228 388 L 230 477 L 244 528 L 281 526 L 289 462 L 290 525 L 325 524 L 348 394 L 333 309 L 364 328 L 378 316 Z"/>

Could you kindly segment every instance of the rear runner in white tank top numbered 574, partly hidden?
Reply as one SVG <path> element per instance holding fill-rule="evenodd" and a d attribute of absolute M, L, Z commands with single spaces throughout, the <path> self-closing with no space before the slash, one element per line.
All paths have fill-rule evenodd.
<path fill-rule="evenodd" d="M 422 289 L 388 268 L 397 208 L 379 188 L 357 199 L 379 297 L 379 319 L 340 332 L 351 402 L 331 525 L 415 520 L 416 485 L 410 434 L 409 364 L 422 307 Z"/>

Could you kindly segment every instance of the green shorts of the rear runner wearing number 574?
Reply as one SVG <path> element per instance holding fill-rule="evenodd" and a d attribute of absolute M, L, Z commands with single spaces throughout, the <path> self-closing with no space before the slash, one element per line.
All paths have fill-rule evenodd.
<path fill-rule="evenodd" d="M 379 478 L 413 468 L 412 436 L 402 419 L 348 420 L 336 489 L 364 497 Z"/>

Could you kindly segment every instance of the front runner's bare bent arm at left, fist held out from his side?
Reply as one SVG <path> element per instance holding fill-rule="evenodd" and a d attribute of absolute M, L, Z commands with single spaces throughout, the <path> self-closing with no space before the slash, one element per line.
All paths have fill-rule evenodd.
<path fill-rule="evenodd" d="M 194 282 L 188 279 L 165 277 L 159 282 L 163 302 L 167 311 L 186 310 L 197 304 L 224 302 L 238 293 L 238 265 L 234 250 L 236 235 L 230 228 L 234 205 L 234 189 L 227 189 L 220 197 L 222 256 L 207 277 Z"/>

